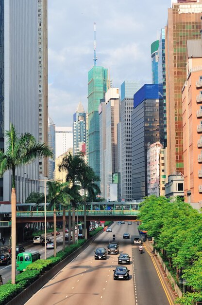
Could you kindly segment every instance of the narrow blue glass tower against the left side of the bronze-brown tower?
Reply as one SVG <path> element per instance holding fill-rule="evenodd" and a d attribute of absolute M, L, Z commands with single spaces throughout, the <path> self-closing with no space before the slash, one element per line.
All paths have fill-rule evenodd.
<path fill-rule="evenodd" d="M 159 134 L 160 143 L 167 147 L 165 29 L 161 29 L 158 57 L 158 83 L 163 84 L 163 99 L 159 103 Z"/>

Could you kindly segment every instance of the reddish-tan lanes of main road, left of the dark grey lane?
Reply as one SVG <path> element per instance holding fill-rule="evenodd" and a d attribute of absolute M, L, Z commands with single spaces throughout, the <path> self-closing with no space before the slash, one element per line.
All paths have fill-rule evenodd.
<path fill-rule="evenodd" d="M 94 302 L 101 304 L 103 300 L 108 303 L 109 295 L 112 304 L 115 300 L 117 304 L 123 304 L 125 295 L 123 295 L 122 289 L 118 288 L 123 287 L 132 291 L 127 304 L 134 305 L 133 280 L 120 282 L 113 280 L 113 269 L 118 265 L 118 255 L 108 255 L 107 260 L 94 260 L 94 250 L 108 243 L 107 235 L 106 232 L 103 232 L 84 252 L 36 293 L 27 304 L 32 305 L 36 302 L 49 305 L 56 303 L 89 305 Z M 123 240 L 120 250 L 129 252 L 129 248 L 131 248 L 130 240 Z M 117 291 L 117 289 L 119 290 Z"/>

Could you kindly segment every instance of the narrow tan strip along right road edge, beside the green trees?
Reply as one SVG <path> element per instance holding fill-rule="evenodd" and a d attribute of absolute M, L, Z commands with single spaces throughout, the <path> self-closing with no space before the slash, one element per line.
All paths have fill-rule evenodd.
<path fill-rule="evenodd" d="M 162 281 L 164 282 L 166 288 L 167 288 L 167 293 L 170 297 L 170 300 L 172 302 L 173 305 L 176 305 L 174 303 L 175 299 L 178 297 L 177 293 L 172 289 L 171 283 L 168 280 L 168 276 L 163 268 L 163 266 L 161 265 L 159 259 L 157 258 L 157 255 L 153 252 L 153 246 L 152 246 L 152 242 L 151 241 L 146 241 L 144 242 L 144 247 L 147 248 L 150 256 L 153 258 L 156 267 L 158 268 L 159 274 L 161 276 Z"/>

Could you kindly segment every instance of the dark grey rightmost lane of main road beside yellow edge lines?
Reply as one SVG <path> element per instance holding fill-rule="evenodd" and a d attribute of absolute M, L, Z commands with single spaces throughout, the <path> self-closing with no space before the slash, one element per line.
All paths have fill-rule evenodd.
<path fill-rule="evenodd" d="M 169 305 L 165 290 L 147 251 L 143 248 L 143 253 L 140 254 L 139 246 L 134 246 L 133 260 L 138 305 Z"/>

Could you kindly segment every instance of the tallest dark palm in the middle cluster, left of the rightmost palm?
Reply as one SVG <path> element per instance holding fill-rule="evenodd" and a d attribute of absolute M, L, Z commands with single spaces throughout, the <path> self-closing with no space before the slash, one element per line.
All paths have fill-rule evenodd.
<path fill-rule="evenodd" d="M 77 200 L 79 198 L 79 187 L 75 188 L 75 182 L 80 181 L 80 175 L 84 166 L 84 158 L 82 154 L 72 155 L 70 152 L 63 158 L 58 169 L 59 172 L 67 172 L 66 181 L 71 183 L 70 189 L 73 191 L 74 200 L 70 200 L 72 205 L 72 227 L 73 227 L 73 243 L 75 242 L 75 208 Z M 77 197 L 77 198 L 76 198 Z M 69 221 L 70 222 L 70 210 L 69 210 Z M 69 224 L 70 227 L 70 224 Z M 69 233 L 70 234 L 70 233 Z M 69 240 L 70 242 L 70 240 Z"/>

